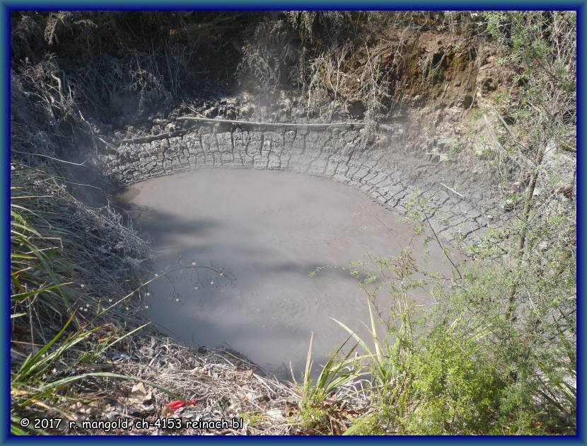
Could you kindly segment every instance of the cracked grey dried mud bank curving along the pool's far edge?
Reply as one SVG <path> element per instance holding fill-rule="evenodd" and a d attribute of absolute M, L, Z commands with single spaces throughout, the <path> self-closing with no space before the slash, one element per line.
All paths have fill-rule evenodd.
<path fill-rule="evenodd" d="M 427 163 L 412 153 L 403 132 L 400 125 L 388 126 L 382 142 L 364 147 L 361 130 L 352 127 L 212 123 L 150 142 L 124 142 L 96 163 L 120 185 L 200 168 L 286 170 L 332 178 L 400 215 L 408 215 L 414 200 L 427 200 L 434 230 L 451 241 L 471 241 L 488 221 L 496 224 L 498 203 L 487 188 L 489 179 L 478 176 L 475 182 L 471 166 Z M 471 186 L 467 197 L 450 186 L 463 182 Z"/>

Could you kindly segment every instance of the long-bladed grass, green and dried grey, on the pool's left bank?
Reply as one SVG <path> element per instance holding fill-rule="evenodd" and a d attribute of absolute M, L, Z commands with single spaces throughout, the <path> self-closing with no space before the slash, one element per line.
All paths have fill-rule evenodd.
<path fill-rule="evenodd" d="M 97 239 L 102 243 L 96 243 Z M 144 327 L 137 326 L 123 334 L 96 336 L 107 319 L 120 320 L 122 313 L 117 309 L 105 311 L 100 297 L 93 292 L 100 287 L 114 296 L 124 292 L 131 298 L 133 294 L 117 285 L 117 281 L 110 287 L 103 287 L 100 278 L 95 283 L 97 275 L 92 268 L 100 262 L 96 251 L 103 250 L 112 240 L 119 244 L 127 240 L 125 246 L 129 253 L 134 256 L 141 253 L 138 239 L 132 233 L 81 206 L 59 188 L 47 171 L 13 165 L 10 276 L 13 435 L 50 433 L 30 425 L 23 428 L 20 421 L 24 417 L 73 419 L 67 407 L 83 399 L 75 389 L 76 384 L 95 379 L 146 382 L 122 374 L 90 372 L 86 367 L 98 361 L 107 349 Z M 100 272 L 105 278 L 113 274 L 107 269 Z M 126 316 L 132 321 L 132 315 Z"/>

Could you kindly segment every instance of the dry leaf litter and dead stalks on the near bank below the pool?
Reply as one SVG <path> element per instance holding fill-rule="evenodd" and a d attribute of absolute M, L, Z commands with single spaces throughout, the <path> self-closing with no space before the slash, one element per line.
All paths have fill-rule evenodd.
<path fill-rule="evenodd" d="M 127 343 L 108 351 L 91 367 L 100 371 L 124 374 L 144 381 L 98 378 L 83 382 L 71 391 L 73 404 L 66 404 L 72 418 L 82 420 L 116 420 L 131 423 L 146 419 L 173 418 L 182 428 L 133 429 L 138 435 L 282 435 L 291 432 L 286 421 L 288 407 L 296 407 L 298 396 L 288 384 L 265 377 L 255 365 L 228 350 L 194 350 L 156 334 L 128 338 Z M 165 389 L 150 385 L 156 383 Z M 172 392 L 172 394 L 170 394 Z M 175 394 L 175 396 L 173 396 Z M 80 401 L 79 399 L 83 400 Z M 190 401 L 175 407 L 172 401 Z M 179 405 L 178 405 L 179 406 Z M 239 428 L 221 430 L 194 429 L 199 419 L 229 422 L 243 418 Z M 69 433 L 88 433 L 74 430 Z M 92 434 L 105 434 L 92 431 Z M 113 432 L 127 435 L 128 432 Z"/>

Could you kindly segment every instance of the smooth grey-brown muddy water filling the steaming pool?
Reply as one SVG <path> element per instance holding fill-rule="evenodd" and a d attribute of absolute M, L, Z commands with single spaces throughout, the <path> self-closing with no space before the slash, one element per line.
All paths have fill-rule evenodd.
<path fill-rule="evenodd" d="M 146 316 L 182 341 L 228 345 L 281 376 L 290 362 L 303 368 L 310 333 L 315 363 L 347 338 L 331 317 L 367 334 L 366 295 L 349 261 L 395 256 L 414 234 L 359 191 L 291 172 L 179 173 L 127 188 L 122 200 L 158 251 Z M 430 259 L 429 268 L 447 269 L 438 247 Z M 431 304 L 426 292 L 413 298 Z"/>

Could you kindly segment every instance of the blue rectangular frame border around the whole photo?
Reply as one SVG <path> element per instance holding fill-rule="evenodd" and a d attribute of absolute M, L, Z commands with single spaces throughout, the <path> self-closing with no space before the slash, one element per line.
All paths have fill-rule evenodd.
<path fill-rule="evenodd" d="M 207 442 L 215 444 L 226 444 L 232 442 L 301 442 L 305 444 L 316 443 L 333 443 L 333 442 L 359 442 L 363 444 L 393 442 L 394 444 L 424 444 L 429 442 L 483 442 L 485 444 L 499 442 L 505 444 L 525 443 L 525 444 L 586 444 L 586 414 L 584 410 L 585 403 L 585 387 L 583 386 L 583 377 L 585 371 L 585 351 L 584 351 L 584 328 L 583 321 L 586 321 L 585 305 L 582 302 L 584 295 L 583 278 L 586 277 L 587 270 L 583 265 L 583 253 L 586 248 L 586 241 L 582 234 L 581 228 L 583 226 L 583 212 L 585 212 L 584 202 L 584 188 L 585 181 L 583 179 L 583 172 L 586 172 L 586 159 L 582 149 L 585 148 L 585 135 L 583 129 L 587 127 L 585 113 L 583 110 L 586 104 L 585 88 L 583 75 L 586 64 L 586 45 L 583 43 L 585 38 L 584 26 L 587 23 L 587 0 L 574 1 L 560 1 L 557 3 L 547 1 L 443 1 L 441 4 L 433 0 L 420 0 L 417 2 L 402 1 L 384 1 L 384 0 L 370 0 L 364 2 L 344 0 L 321 0 L 321 1 L 304 1 L 304 0 L 289 0 L 280 2 L 270 2 L 269 0 L 255 0 L 255 1 L 236 1 L 236 0 L 204 0 L 204 1 L 187 1 L 187 0 L 170 0 L 170 1 L 129 1 L 129 0 L 105 0 L 105 1 L 15 1 L 15 0 L 0 0 L 0 32 L 1 32 L 1 57 L 0 57 L 0 135 L 1 135 L 1 150 L 0 150 L 0 180 L 3 188 L 3 193 L 0 195 L 1 208 L 4 210 L 1 219 L 1 234 L 3 237 L 0 241 L 0 253 L 4 253 L 1 258 L 1 269 L 4 273 L 0 276 L 1 289 L 4 291 L 4 304 L 1 305 L 0 325 L 0 365 L 2 372 L 2 385 L 4 387 L 0 399 L 0 413 L 2 420 L 0 421 L 0 442 L 2 444 L 28 444 L 30 442 L 42 442 L 44 444 L 62 444 L 62 443 L 76 443 L 76 442 L 92 442 L 108 444 L 123 444 L 126 442 L 149 442 L 149 443 L 168 443 L 168 442 Z M 556 9 L 556 10 L 574 10 L 577 12 L 577 267 L 579 268 L 577 275 L 577 390 L 579 398 L 577 401 L 577 433 L 573 436 L 554 437 L 554 436 L 533 436 L 533 437 L 508 437 L 508 436 L 455 436 L 455 437 L 361 437 L 361 438 L 332 438 L 332 437 L 313 437 L 313 438 L 299 438 L 299 437 L 152 437 L 152 436 L 129 436 L 129 437 L 94 437 L 94 436 L 52 436 L 52 437 L 16 437 L 10 434 L 10 259 L 8 253 L 10 244 L 10 13 L 13 10 L 254 10 L 254 11 L 281 11 L 286 9 L 313 9 L 313 10 L 536 10 L 536 9 Z"/>

